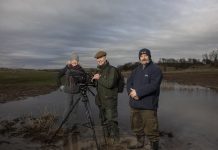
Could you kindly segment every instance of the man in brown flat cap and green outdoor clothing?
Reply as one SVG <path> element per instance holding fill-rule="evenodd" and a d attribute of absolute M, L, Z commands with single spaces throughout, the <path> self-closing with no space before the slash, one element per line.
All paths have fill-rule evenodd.
<path fill-rule="evenodd" d="M 118 97 L 118 72 L 109 64 L 106 59 L 106 52 L 96 53 L 96 73 L 92 80 L 97 81 L 96 104 L 99 107 L 101 123 L 104 127 L 104 134 L 111 140 L 112 144 L 119 142 L 117 97 Z"/>

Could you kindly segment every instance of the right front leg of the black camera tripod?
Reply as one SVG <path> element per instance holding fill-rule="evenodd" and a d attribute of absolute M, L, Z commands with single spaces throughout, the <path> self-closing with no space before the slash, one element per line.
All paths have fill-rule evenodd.
<path fill-rule="evenodd" d="M 97 141 L 97 136 L 96 136 L 96 133 L 95 133 L 95 128 L 94 128 L 94 121 L 92 120 L 92 117 L 91 117 L 91 112 L 89 110 L 89 101 L 88 101 L 88 98 L 87 97 L 84 97 L 85 100 L 84 100 L 84 105 L 85 105 L 85 109 L 86 109 L 86 116 L 87 116 L 87 119 L 90 123 L 90 128 L 92 129 L 92 132 L 93 132 L 93 138 L 95 140 L 95 143 L 96 143 L 96 146 L 97 146 L 97 150 L 100 150 L 100 147 L 99 147 L 99 144 L 98 144 L 98 141 Z"/>

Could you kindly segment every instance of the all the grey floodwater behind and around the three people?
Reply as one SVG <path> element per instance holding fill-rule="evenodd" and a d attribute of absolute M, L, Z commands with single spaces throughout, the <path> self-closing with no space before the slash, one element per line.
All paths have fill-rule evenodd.
<path fill-rule="evenodd" d="M 94 89 L 91 90 L 95 92 Z M 90 93 L 88 97 L 92 116 L 96 124 L 99 124 L 94 97 Z M 51 112 L 61 117 L 66 106 L 66 98 L 65 93 L 54 91 L 47 95 L 0 104 L 0 119 L 12 119 L 22 115 L 37 116 L 44 112 Z M 119 94 L 118 101 L 121 134 L 131 133 L 127 93 Z M 217 108 L 218 92 L 200 86 L 163 82 L 158 109 L 160 130 L 171 132 L 173 134 L 171 142 L 177 142 L 180 149 L 215 150 L 218 146 Z M 84 105 L 80 102 L 81 120 L 86 117 L 83 111 L 85 111 Z"/>

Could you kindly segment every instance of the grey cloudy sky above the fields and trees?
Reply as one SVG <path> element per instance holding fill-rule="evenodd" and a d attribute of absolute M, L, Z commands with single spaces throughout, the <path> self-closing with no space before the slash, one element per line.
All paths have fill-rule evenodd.
<path fill-rule="evenodd" d="M 0 0 L 0 67 L 63 68 L 72 52 L 96 67 L 197 58 L 218 48 L 217 0 Z"/>

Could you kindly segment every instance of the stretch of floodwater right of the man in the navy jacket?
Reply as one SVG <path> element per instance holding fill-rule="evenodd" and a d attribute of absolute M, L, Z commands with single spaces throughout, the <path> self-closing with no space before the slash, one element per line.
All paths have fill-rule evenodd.
<path fill-rule="evenodd" d="M 163 83 L 160 96 L 160 127 L 194 149 L 216 149 L 218 93 L 200 86 Z M 190 148 L 190 149 L 191 149 Z"/>

